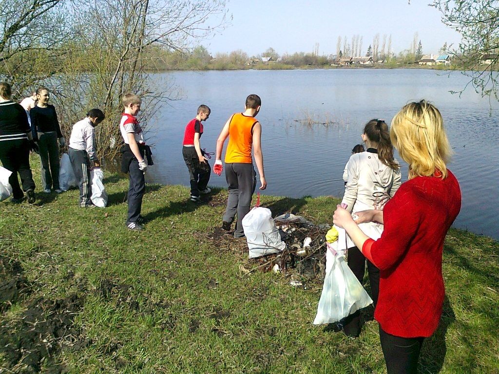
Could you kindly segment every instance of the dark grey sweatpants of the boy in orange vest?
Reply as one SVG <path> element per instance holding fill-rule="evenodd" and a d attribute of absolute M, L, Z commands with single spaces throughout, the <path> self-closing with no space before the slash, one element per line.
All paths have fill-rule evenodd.
<path fill-rule="evenodd" d="M 229 186 L 229 198 L 223 220 L 232 223 L 238 213 L 234 237 L 240 238 L 245 235 L 242 221 L 250 211 L 251 197 L 256 188 L 256 172 L 253 164 L 225 164 L 225 179 Z"/>

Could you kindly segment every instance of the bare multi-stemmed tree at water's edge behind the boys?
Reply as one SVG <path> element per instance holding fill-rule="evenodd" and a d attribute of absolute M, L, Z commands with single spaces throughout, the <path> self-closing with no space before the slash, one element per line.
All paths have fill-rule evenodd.
<path fill-rule="evenodd" d="M 148 66 L 155 62 L 148 52 L 155 45 L 187 52 L 190 41 L 225 24 L 225 0 L 75 1 L 78 13 L 74 21 L 79 30 L 76 45 L 81 46 L 82 53 L 67 62 L 54 96 L 64 102 L 61 112 L 66 134 L 88 108 L 98 107 L 105 112 L 106 120 L 97 128 L 98 154 L 113 157 L 118 152 L 111 146 L 113 139 L 120 139 L 116 123 L 124 93 L 135 92 L 143 98 L 144 126 L 160 104 L 177 98 L 167 80 L 148 74 Z M 245 58 L 232 57 L 238 62 Z"/>

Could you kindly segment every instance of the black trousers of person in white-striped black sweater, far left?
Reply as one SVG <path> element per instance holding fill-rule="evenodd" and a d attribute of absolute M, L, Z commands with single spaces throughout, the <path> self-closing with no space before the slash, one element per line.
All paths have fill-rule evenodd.
<path fill-rule="evenodd" d="M 8 178 L 8 183 L 12 187 L 13 198 L 22 198 L 24 196 L 23 190 L 34 190 L 33 174 L 29 167 L 29 142 L 27 139 L 1 141 L 0 161 L 5 169 L 12 172 Z M 22 189 L 19 186 L 17 173 L 21 177 Z"/>

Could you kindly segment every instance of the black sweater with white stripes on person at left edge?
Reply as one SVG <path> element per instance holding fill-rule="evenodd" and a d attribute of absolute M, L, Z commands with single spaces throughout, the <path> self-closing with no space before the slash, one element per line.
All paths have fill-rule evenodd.
<path fill-rule="evenodd" d="M 0 103 L 0 141 L 27 139 L 30 131 L 24 108 L 10 100 Z"/>

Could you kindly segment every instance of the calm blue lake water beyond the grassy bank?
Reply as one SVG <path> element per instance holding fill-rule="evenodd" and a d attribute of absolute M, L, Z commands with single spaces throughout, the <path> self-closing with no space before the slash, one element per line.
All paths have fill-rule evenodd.
<path fill-rule="evenodd" d="M 409 101 L 425 98 L 440 109 L 455 155 L 449 169 L 459 180 L 463 205 L 455 226 L 499 239 L 499 106 L 472 90 L 461 98 L 449 91 L 468 82 L 423 69 L 331 69 L 283 71 L 207 71 L 157 74 L 182 92 L 182 100 L 162 107 L 148 125 L 155 144 L 155 166 L 148 181 L 189 185 L 182 158 L 187 122 L 200 104 L 212 113 L 205 122 L 202 148 L 215 152 L 216 140 L 232 113 L 244 110 L 250 93 L 262 107 L 262 151 L 271 195 L 343 195 L 343 168 L 351 149 L 372 118 L 392 117 Z M 311 117 L 329 126 L 303 126 L 295 120 Z M 226 143 L 227 147 L 227 143 Z M 407 165 L 403 179 L 407 180 Z M 211 161 L 211 165 L 213 165 Z M 212 174 L 210 185 L 226 187 L 225 177 Z"/>

